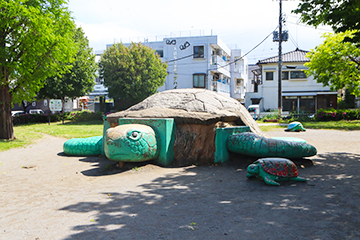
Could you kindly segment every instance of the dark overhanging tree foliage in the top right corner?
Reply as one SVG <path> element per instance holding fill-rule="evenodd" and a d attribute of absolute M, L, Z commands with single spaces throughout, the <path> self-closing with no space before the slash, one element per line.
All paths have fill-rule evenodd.
<path fill-rule="evenodd" d="M 360 30 L 359 0 L 301 0 L 293 11 L 301 14 L 301 21 L 315 27 L 320 24 L 329 25 L 336 33 L 346 30 Z M 360 31 L 350 40 L 360 42 Z"/>

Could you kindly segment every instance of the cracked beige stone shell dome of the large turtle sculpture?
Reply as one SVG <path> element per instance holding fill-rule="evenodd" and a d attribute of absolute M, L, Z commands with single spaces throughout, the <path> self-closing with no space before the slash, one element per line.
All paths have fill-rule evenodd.
<path fill-rule="evenodd" d="M 246 108 L 236 99 L 206 89 L 173 89 L 156 93 L 129 109 L 109 114 L 109 122 L 119 118 L 174 118 L 177 124 L 210 125 L 235 122 L 263 135 Z"/>

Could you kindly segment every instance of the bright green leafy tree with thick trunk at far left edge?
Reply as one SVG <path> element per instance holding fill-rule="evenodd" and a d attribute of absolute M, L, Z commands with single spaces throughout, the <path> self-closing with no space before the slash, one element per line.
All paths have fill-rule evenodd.
<path fill-rule="evenodd" d="M 0 139 L 15 138 L 12 103 L 31 101 L 44 80 L 66 70 L 74 23 L 64 0 L 0 1 Z"/>

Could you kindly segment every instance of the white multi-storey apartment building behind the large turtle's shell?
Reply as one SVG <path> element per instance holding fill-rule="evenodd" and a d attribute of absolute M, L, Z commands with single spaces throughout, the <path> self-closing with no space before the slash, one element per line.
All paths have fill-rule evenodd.
<path fill-rule="evenodd" d="M 155 49 L 168 63 L 168 75 L 159 91 L 205 88 L 244 102 L 247 59 L 241 58 L 241 50 L 231 50 L 218 36 L 170 37 L 142 44 Z"/>

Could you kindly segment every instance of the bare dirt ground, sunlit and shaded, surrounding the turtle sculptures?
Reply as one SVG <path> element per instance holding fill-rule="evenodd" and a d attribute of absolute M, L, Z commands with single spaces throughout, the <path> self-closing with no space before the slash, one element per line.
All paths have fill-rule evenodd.
<path fill-rule="evenodd" d="M 296 161 L 308 182 L 267 186 L 247 160 L 123 170 L 68 157 L 45 136 L 0 153 L 0 239 L 360 239 L 360 131 L 307 130 L 318 154 Z"/>

